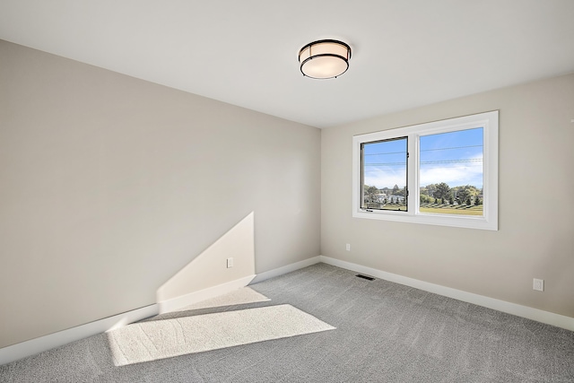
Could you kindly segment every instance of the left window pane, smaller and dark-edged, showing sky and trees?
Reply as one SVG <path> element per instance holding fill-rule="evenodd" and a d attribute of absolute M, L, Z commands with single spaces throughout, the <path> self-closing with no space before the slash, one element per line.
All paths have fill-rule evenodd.
<path fill-rule="evenodd" d="M 406 212 L 407 138 L 364 143 L 361 207 Z"/>

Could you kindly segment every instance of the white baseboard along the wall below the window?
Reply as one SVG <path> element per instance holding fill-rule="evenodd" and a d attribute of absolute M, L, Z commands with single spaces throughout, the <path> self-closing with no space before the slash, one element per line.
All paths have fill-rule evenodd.
<path fill-rule="evenodd" d="M 443 295 L 455 300 L 462 300 L 478 306 L 483 306 L 489 309 L 496 309 L 498 311 L 516 315 L 517 317 L 528 318 L 537 322 L 545 323 L 547 325 L 557 326 L 570 331 L 574 331 L 574 318 L 566 317 L 564 315 L 554 314 L 553 312 L 544 311 L 542 309 L 533 309 L 527 306 L 518 305 L 516 303 L 510 303 L 505 300 L 489 298 L 483 295 L 474 294 L 472 292 L 463 292 L 461 290 L 452 289 L 450 287 L 441 286 L 439 284 L 419 281 L 417 279 L 408 278 L 403 275 L 387 273 L 378 269 L 353 264 L 351 262 L 346 262 L 331 257 L 320 256 L 319 258 L 321 262 L 327 265 L 342 267 L 357 273 L 375 276 L 389 282 L 411 286 L 425 292 L 434 292 L 435 294 Z"/>

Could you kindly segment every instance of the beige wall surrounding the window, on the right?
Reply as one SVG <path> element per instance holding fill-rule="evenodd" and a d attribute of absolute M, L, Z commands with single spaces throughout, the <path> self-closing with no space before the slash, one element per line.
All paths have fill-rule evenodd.
<path fill-rule="evenodd" d="M 499 231 L 352 218 L 352 135 L 494 109 Z M 323 129 L 322 255 L 574 317 L 573 118 L 570 74 Z"/>

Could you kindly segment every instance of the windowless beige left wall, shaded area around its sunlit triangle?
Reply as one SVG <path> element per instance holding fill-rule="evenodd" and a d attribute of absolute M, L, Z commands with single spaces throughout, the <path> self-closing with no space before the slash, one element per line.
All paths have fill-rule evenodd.
<path fill-rule="evenodd" d="M 257 273 L 316 257 L 319 192 L 317 128 L 0 41 L 0 347 L 153 304 L 251 213 Z"/>

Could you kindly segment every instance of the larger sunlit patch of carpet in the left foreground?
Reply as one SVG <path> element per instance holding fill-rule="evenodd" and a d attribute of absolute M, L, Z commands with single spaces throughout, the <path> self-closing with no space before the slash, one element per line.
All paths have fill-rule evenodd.
<path fill-rule="evenodd" d="M 291 305 L 154 320 L 108 333 L 116 366 L 333 330 Z"/>

